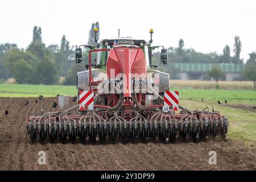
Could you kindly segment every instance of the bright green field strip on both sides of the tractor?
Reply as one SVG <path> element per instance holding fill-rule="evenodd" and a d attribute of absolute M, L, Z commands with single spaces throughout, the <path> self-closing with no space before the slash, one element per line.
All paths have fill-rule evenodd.
<path fill-rule="evenodd" d="M 253 90 L 216 90 L 216 89 L 191 89 L 172 88 L 179 90 L 181 100 L 195 100 L 217 104 L 217 101 L 229 104 L 256 105 L 256 92 Z M 22 84 L 0 84 L 0 97 L 37 97 L 42 94 L 45 97 L 55 97 L 57 94 L 63 96 L 75 96 L 76 86 L 64 85 L 22 85 Z"/>

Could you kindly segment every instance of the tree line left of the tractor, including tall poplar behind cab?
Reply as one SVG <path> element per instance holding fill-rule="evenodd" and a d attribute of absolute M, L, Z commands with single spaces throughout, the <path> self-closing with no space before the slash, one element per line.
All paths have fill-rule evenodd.
<path fill-rule="evenodd" d="M 89 31 L 88 44 L 94 44 L 93 29 L 98 22 L 92 24 Z M 99 35 L 99 34 L 98 34 Z M 35 26 L 32 42 L 26 49 L 18 48 L 16 44 L 0 45 L 0 81 L 14 78 L 19 84 L 61 84 L 75 85 L 76 73 L 85 68 L 75 64 L 75 48 L 71 46 L 65 35 L 60 45 L 43 43 L 42 28 Z M 86 54 L 87 52 L 85 52 Z M 84 56 L 84 61 L 88 61 Z"/>

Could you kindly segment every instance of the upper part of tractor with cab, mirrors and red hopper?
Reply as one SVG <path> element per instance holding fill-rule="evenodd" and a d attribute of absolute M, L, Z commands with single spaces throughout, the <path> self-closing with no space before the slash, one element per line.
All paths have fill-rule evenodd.
<path fill-rule="evenodd" d="M 152 31 L 150 31 L 152 35 Z M 152 51 L 162 47 L 160 55 L 160 63 L 167 64 L 167 49 L 163 46 L 151 46 L 152 36 L 149 42 L 142 39 L 133 38 L 115 38 L 103 39 L 97 42 L 97 46 L 85 46 L 89 51 L 89 64 L 86 65 L 86 70 L 77 73 L 77 89 L 80 90 L 95 90 L 101 81 L 106 81 L 114 78 L 118 73 L 124 75 L 135 74 L 145 76 L 146 80 L 158 80 L 158 92 L 163 94 L 165 90 L 169 90 L 170 75 L 158 70 L 158 65 L 152 64 Z M 76 57 L 80 57 L 81 48 L 78 48 Z M 97 52 L 97 59 L 92 61 L 91 52 Z M 95 57 L 96 58 L 96 57 Z M 81 57 L 79 58 L 81 60 Z M 79 62 L 80 63 L 80 62 Z M 111 70 L 115 71 L 114 77 L 111 75 Z M 127 82 L 130 78 L 127 78 Z M 154 81 L 153 81 L 154 82 Z M 154 83 L 152 83 L 154 85 Z M 131 85 L 133 83 L 131 82 Z M 130 86 L 128 86 L 130 89 Z M 128 90 L 129 90 L 128 89 Z"/>

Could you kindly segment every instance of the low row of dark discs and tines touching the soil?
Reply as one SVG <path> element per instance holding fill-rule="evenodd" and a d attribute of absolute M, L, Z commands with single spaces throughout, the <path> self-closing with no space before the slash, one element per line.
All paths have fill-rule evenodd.
<path fill-rule="evenodd" d="M 207 115 L 207 116 L 206 116 Z M 97 117 L 98 116 L 98 117 Z M 159 115 L 160 120 L 147 121 L 146 119 L 121 121 L 112 118 L 106 121 L 99 115 L 91 112 L 91 115 L 75 115 L 67 118 L 59 118 L 60 121 L 52 121 L 55 118 L 38 120 L 36 117 L 28 121 L 27 132 L 31 142 L 37 138 L 51 142 L 60 140 L 65 143 L 67 138 L 72 142 L 80 139 L 105 142 L 106 140 L 144 140 L 154 139 L 163 142 L 175 142 L 176 139 L 187 140 L 189 137 L 194 142 L 204 140 L 207 136 L 225 137 L 228 132 L 228 120 L 217 114 L 198 114 L 191 117 L 188 115 Z M 187 118 L 185 118 L 187 117 Z M 185 119 L 184 119 L 185 118 Z M 199 119 L 198 119 L 199 118 Z M 33 121 L 34 120 L 34 121 Z"/>

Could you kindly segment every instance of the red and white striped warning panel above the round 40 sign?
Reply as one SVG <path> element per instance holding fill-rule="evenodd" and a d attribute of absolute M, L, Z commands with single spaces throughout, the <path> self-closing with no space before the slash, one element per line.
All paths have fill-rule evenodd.
<path fill-rule="evenodd" d="M 164 105 L 173 106 L 173 110 L 179 109 L 179 91 L 164 92 Z"/>

